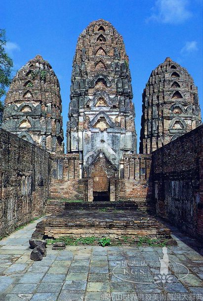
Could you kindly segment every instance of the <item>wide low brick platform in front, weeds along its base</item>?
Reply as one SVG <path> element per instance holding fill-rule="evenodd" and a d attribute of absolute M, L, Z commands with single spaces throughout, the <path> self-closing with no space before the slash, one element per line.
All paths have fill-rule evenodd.
<path fill-rule="evenodd" d="M 95 236 L 109 237 L 113 242 L 128 236 L 130 243 L 139 241 L 140 237 L 168 239 L 170 230 L 155 217 L 141 211 L 99 212 L 99 211 L 64 211 L 52 215 L 38 223 L 32 238 L 59 238 L 74 236 L 76 238 Z"/>

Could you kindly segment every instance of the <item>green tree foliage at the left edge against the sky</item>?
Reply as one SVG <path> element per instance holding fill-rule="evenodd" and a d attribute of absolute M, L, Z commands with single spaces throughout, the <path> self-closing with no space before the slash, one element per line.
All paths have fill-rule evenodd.
<path fill-rule="evenodd" d="M 6 87 L 11 83 L 11 72 L 13 62 L 5 52 L 6 37 L 5 30 L 0 29 L 0 99 L 6 93 Z M 3 115 L 3 104 L 0 101 L 0 124 Z"/>

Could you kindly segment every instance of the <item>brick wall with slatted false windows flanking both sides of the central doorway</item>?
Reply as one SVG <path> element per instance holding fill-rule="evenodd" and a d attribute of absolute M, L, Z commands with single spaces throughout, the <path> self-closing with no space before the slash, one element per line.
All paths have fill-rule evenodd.
<path fill-rule="evenodd" d="M 80 179 L 79 154 L 51 155 L 51 162 L 51 198 L 93 200 L 93 180 Z M 110 179 L 110 200 L 132 200 L 146 209 L 152 195 L 151 156 L 126 154 L 120 164 L 122 178 Z"/>

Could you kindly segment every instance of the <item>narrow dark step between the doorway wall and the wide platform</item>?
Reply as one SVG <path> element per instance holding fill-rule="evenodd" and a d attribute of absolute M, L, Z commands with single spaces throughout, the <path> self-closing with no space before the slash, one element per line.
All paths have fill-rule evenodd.
<path fill-rule="evenodd" d="M 146 202 L 142 200 L 139 203 L 133 201 L 115 201 L 115 202 L 70 202 L 60 199 L 49 199 L 47 201 L 47 210 L 48 214 L 61 213 L 63 210 L 132 210 L 136 211 L 137 209 L 148 210 L 151 213 L 154 213 L 155 207 L 154 204 L 149 204 L 146 206 Z"/>

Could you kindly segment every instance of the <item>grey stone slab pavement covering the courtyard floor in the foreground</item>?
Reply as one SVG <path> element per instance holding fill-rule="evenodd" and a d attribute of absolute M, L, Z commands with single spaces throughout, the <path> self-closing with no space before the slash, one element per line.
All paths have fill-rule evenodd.
<path fill-rule="evenodd" d="M 161 247 L 47 246 L 32 262 L 29 238 L 40 220 L 0 241 L 0 301 L 203 300 L 203 250 L 175 228 L 178 246 L 166 257 Z"/>

